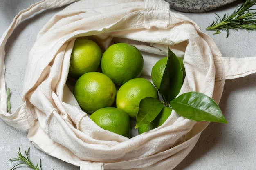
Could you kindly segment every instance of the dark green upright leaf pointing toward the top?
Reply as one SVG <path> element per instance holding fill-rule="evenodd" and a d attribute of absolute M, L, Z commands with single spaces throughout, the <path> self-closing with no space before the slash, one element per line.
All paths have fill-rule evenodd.
<path fill-rule="evenodd" d="M 168 48 L 168 59 L 159 93 L 163 97 L 166 106 L 180 93 L 183 82 L 182 66 L 177 56 Z"/>

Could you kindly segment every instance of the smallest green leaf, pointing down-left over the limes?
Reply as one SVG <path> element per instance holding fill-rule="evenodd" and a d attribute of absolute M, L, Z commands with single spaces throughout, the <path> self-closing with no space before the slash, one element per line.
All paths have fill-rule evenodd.
<path fill-rule="evenodd" d="M 161 112 L 164 105 L 158 99 L 153 97 L 146 97 L 139 103 L 139 111 L 136 117 L 135 128 L 143 124 L 149 124 Z"/>

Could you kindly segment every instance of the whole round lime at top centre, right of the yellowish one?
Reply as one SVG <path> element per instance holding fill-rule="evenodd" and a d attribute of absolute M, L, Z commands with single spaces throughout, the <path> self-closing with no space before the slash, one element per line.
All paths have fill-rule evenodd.
<path fill-rule="evenodd" d="M 116 84 L 124 84 L 141 75 L 143 57 L 133 45 L 126 43 L 113 44 L 106 49 L 101 59 L 102 73 Z"/>

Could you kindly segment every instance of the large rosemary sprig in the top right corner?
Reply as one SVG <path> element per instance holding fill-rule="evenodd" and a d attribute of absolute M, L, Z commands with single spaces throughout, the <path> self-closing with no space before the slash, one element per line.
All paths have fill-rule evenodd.
<path fill-rule="evenodd" d="M 229 29 L 246 29 L 256 30 L 256 12 L 255 9 L 249 9 L 256 4 L 256 0 L 245 0 L 242 4 L 238 5 L 231 15 L 224 14 L 221 19 L 218 14 L 216 21 L 208 26 L 206 30 L 216 31 L 213 34 L 221 33 L 220 30 L 227 31 L 227 37 L 229 36 Z"/>

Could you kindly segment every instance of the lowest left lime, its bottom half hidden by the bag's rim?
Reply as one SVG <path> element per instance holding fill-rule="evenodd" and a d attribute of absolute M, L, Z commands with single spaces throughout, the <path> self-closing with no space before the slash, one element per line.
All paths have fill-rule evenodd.
<path fill-rule="evenodd" d="M 104 130 L 130 137 L 130 117 L 118 108 L 101 108 L 92 113 L 90 118 Z"/>

